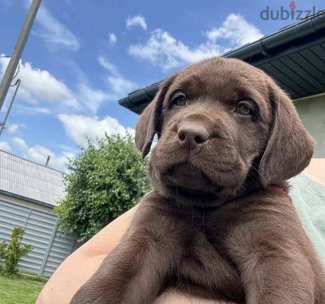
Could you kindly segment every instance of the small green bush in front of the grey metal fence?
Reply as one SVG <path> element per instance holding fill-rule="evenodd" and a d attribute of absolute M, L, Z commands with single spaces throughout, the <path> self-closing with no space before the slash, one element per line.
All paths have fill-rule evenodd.
<path fill-rule="evenodd" d="M 4 260 L 4 266 L 0 270 L 6 275 L 15 275 L 20 258 L 33 248 L 31 245 L 20 245 L 24 233 L 22 227 L 14 227 L 9 244 L 6 241 L 0 243 L 0 259 Z"/>

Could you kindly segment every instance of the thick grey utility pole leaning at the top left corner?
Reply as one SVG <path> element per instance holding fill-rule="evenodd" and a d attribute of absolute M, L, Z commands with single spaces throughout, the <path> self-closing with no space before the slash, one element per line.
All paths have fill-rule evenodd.
<path fill-rule="evenodd" d="M 0 85 L 0 111 L 6 99 L 10 84 L 12 82 L 21 54 L 24 50 L 31 26 L 33 25 L 41 1 L 42 0 L 32 1 L 24 25 L 20 31 L 15 49 L 10 57 L 9 64 Z"/>

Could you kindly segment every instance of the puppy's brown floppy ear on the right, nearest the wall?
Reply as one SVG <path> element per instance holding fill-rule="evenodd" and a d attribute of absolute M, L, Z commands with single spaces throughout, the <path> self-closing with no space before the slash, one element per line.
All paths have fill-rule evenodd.
<path fill-rule="evenodd" d="M 304 170 L 315 145 L 287 94 L 275 84 L 271 85 L 271 92 L 273 123 L 259 167 L 264 186 L 289 179 Z"/>

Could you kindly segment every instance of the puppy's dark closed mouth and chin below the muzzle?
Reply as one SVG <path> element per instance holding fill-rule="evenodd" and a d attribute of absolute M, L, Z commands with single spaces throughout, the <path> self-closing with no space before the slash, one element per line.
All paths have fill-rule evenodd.
<path fill-rule="evenodd" d="M 161 181 L 177 196 L 195 200 L 212 201 L 224 187 L 212 182 L 207 175 L 190 163 L 178 164 L 161 174 Z"/>

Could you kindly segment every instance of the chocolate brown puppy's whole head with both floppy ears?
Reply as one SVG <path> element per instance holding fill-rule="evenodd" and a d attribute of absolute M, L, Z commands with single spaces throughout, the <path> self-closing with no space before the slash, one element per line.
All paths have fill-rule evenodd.
<path fill-rule="evenodd" d="M 165 80 L 143 111 L 136 145 L 157 191 L 181 204 L 218 205 L 247 185 L 301 172 L 314 141 L 290 98 L 263 71 L 213 58 Z"/>

